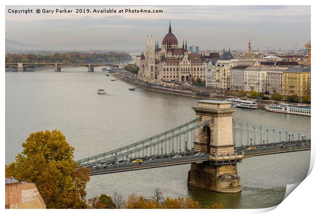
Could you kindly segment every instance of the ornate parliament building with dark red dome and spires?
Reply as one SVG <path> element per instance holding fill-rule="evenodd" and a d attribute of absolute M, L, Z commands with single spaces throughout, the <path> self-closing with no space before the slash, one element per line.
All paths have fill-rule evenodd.
<path fill-rule="evenodd" d="M 146 52 L 142 53 L 138 78 L 147 82 L 163 84 L 163 81 L 191 82 L 201 79 L 205 81 L 206 63 L 201 55 L 190 54 L 186 43 L 179 47 L 177 38 L 172 34 L 171 23 L 169 33 L 163 39 L 161 47 L 152 38 L 147 37 Z"/>

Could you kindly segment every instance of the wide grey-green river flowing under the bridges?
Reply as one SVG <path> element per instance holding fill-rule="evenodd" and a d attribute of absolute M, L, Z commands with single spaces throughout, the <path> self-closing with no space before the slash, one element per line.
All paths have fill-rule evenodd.
<path fill-rule="evenodd" d="M 95 69 L 100 71 L 101 68 Z M 6 72 L 6 163 L 14 161 L 32 132 L 61 130 L 75 148 L 75 159 L 99 154 L 171 129 L 195 117 L 197 99 L 129 91 L 104 72 L 63 68 L 63 72 Z M 97 89 L 107 95 L 98 95 Z M 310 133 L 310 117 L 237 109 L 234 116 L 262 126 Z M 238 164 L 242 192 L 221 194 L 187 185 L 190 165 L 92 176 L 87 198 L 131 193 L 150 197 L 158 187 L 165 197 L 192 197 L 201 204 L 226 208 L 264 208 L 280 203 L 287 184 L 303 180 L 310 151 L 244 159 Z"/>

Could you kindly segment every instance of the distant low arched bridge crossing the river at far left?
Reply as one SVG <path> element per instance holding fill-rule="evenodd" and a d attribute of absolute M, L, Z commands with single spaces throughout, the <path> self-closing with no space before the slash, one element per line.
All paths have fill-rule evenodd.
<path fill-rule="evenodd" d="M 88 72 L 93 72 L 94 68 L 96 67 L 116 67 L 121 68 L 123 65 L 115 65 L 115 64 L 78 64 L 78 63 L 6 63 L 6 66 L 11 66 L 17 68 L 17 71 L 25 71 L 27 67 L 30 66 L 48 66 L 51 68 L 54 68 L 54 71 L 59 72 L 61 71 L 61 68 L 63 67 L 69 67 L 69 66 L 83 66 L 88 68 Z"/>

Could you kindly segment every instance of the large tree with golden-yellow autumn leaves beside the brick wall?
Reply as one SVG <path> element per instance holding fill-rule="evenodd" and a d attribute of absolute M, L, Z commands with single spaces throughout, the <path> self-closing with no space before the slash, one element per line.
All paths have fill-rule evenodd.
<path fill-rule="evenodd" d="M 58 130 L 35 132 L 22 143 L 23 151 L 6 167 L 6 176 L 34 182 L 47 208 L 86 208 L 89 168 L 73 161 L 74 148 Z"/>

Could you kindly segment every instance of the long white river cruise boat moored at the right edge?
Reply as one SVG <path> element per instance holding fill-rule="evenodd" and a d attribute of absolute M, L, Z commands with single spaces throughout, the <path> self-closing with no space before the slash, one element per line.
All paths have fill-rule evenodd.
<path fill-rule="evenodd" d="M 280 103 L 266 105 L 265 108 L 272 112 L 310 116 L 310 106 Z"/>

